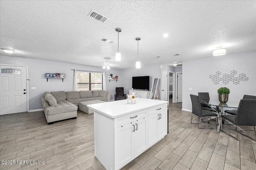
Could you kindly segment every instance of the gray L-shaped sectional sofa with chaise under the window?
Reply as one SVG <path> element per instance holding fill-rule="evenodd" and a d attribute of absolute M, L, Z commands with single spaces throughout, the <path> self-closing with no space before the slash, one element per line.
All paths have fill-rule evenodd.
<path fill-rule="evenodd" d="M 64 119 L 76 119 L 80 102 L 102 100 L 110 102 L 111 94 L 105 90 L 80 92 L 44 92 L 41 97 L 44 115 L 48 124 Z"/>

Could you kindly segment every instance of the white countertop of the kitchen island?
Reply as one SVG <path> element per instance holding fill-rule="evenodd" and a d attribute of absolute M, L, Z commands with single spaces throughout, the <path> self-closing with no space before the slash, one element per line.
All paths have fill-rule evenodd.
<path fill-rule="evenodd" d="M 130 102 L 130 101 L 129 101 Z M 116 118 L 122 115 L 133 113 L 134 111 L 140 111 L 147 109 L 149 107 L 160 106 L 162 104 L 167 104 L 167 101 L 162 100 L 152 100 L 145 98 L 136 98 L 136 104 L 127 104 L 126 100 L 117 100 L 113 102 L 104 102 L 98 104 L 87 105 L 90 109 L 98 111 L 108 117 Z"/>

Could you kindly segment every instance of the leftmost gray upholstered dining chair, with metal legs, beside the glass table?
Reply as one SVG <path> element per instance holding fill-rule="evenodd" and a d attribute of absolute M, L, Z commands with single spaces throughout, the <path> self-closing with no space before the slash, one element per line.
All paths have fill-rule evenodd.
<path fill-rule="evenodd" d="M 209 111 L 209 110 L 202 110 L 202 106 L 200 104 L 200 100 L 199 100 L 199 96 L 190 94 L 190 98 L 191 98 L 191 102 L 192 102 L 192 115 L 191 115 L 191 124 L 198 124 L 198 129 L 216 129 L 217 128 L 217 121 L 216 121 L 216 128 L 200 128 L 200 124 L 208 124 L 208 118 L 209 117 L 216 117 L 218 114 L 216 112 L 213 111 Z M 192 123 L 193 120 L 193 114 L 197 115 L 200 120 L 199 123 Z M 202 118 L 206 118 L 206 123 L 201 123 L 201 119 Z"/>

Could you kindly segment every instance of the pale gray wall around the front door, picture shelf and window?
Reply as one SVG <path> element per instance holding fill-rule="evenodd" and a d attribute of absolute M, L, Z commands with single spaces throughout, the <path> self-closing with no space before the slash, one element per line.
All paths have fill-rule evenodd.
<path fill-rule="evenodd" d="M 42 103 L 40 97 L 46 91 L 72 91 L 73 90 L 73 70 L 89 70 L 89 71 L 104 71 L 102 67 L 88 66 L 81 64 L 61 63 L 54 61 L 44 61 L 36 59 L 27 59 L 20 57 L 11 57 L 0 55 L 1 64 L 14 64 L 28 66 L 28 87 L 29 89 L 29 109 L 41 109 Z M 48 79 L 46 82 L 45 73 L 64 73 L 66 79 L 62 82 L 59 79 Z M 117 75 L 119 81 L 108 81 L 110 74 Z M 108 92 L 111 93 L 111 99 L 114 99 L 116 87 L 122 86 L 122 72 L 118 69 L 110 69 L 106 73 L 106 86 Z M 36 90 L 31 90 L 31 87 L 36 87 Z"/>

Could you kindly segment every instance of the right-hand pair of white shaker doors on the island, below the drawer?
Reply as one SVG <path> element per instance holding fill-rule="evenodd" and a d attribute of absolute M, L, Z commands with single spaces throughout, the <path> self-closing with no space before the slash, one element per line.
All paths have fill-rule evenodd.
<path fill-rule="evenodd" d="M 167 110 L 148 116 L 148 125 L 148 147 L 151 147 L 167 135 Z"/>

